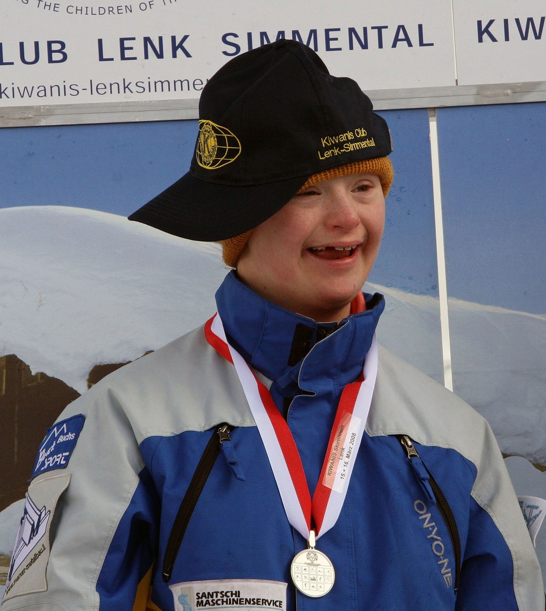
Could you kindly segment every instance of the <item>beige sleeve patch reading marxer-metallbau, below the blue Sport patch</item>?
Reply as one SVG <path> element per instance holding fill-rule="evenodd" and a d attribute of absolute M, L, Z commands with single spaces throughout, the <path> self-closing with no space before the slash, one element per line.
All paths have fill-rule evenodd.
<path fill-rule="evenodd" d="M 69 485 L 70 474 L 33 481 L 13 545 L 4 600 L 47 590 L 45 569 L 50 555 L 49 531 L 57 501 Z"/>

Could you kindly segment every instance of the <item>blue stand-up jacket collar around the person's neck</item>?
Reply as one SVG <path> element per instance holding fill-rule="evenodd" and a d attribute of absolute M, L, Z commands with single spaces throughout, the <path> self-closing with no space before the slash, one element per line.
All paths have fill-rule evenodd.
<path fill-rule="evenodd" d="M 316 323 L 261 298 L 232 271 L 216 302 L 229 342 L 247 363 L 286 389 L 320 393 L 321 385 L 342 389 L 354 381 L 372 343 L 384 298 L 365 295 L 367 309 L 341 323 Z M 286 396 L 286 392 L 281 390 Z"/>

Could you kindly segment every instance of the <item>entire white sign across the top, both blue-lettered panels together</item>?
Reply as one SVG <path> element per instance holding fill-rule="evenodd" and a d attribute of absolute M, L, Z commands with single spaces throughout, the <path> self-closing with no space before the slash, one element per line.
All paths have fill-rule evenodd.
<path fill-rule="evenodd" d="M 504 83 L 522 101 L 546 97 L 544 0 L 1 0 L 0 109 L 9 125 L 25 106 L 32 116 L 124 103 L 176 109 L 177 100 L 196 108 L 221 65 L 280 37 L 408 107 Z M 489 103 L 486 93 L 478 103 Z"/>

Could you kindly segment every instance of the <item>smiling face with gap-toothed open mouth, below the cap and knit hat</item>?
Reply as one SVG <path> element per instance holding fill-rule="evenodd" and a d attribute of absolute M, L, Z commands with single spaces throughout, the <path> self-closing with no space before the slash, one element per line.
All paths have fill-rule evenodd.
<path fill-rule="evenodd" d="M 237 275 L 288 310 L 317 322 L 339 322 L 372 269 L 384 219 L 375 174 L 316 183 L 252 231 Z"/>

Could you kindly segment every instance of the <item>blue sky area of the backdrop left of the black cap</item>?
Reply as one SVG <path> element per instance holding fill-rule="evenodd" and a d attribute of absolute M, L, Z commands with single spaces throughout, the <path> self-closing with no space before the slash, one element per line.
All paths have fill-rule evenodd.
<path fill-rule="evenodd" d="M 197 121 L 0 130 L 0 207 L 60 205 L 127 216 L 184 174 Z"/>

